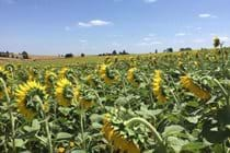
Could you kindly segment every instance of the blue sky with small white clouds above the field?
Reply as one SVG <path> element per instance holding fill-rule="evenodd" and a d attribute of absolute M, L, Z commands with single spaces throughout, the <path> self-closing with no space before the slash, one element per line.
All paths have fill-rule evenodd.
<path fill-rule="evenodd" d="M 230 0 L 0 0 L 0 50 L 153 52 L 230 46 Z"/>

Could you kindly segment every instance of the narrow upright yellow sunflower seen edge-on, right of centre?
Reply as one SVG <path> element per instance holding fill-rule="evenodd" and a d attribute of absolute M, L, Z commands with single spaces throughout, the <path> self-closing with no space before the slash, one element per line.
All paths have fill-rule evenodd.
<path fill-rule="evenodd" d="M 161 84 L 162 84 L 161 71 L 156 70 L 152 82 L 152 91 L 159 102 L 165 102 L 166 97 L 162 93 Z"/>

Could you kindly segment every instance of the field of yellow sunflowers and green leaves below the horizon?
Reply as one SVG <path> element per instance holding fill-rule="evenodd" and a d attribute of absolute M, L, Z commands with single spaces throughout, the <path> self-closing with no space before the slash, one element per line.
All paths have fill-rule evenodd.
<path fill-rule="evenodd" d="M 230 50 L 0 67 L 2 153 L 230 152 Z"/>

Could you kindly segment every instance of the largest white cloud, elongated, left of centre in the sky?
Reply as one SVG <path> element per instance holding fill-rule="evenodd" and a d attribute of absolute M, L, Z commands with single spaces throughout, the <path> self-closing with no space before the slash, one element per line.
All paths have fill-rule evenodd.
<path fill-rule="evenodd" d="M 82 27 L 91 27 L 91 26 L 105 26 L 110 25 L 112 22 L 102 21 L 102 20 L 91 20 L 89 22 L 79 22 L 78 25 Z"/>

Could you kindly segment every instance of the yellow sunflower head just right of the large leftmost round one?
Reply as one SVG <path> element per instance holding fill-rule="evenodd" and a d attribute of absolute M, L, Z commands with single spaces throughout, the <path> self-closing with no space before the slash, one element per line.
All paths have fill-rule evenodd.
<path fill-rule="evenodd" d="M 79 90 L 74 87 L 69 80 L 64 78 L 57 82 L 55 94 L 58 104 L 68 107 L 73 101 L 78 99 Z"/>

